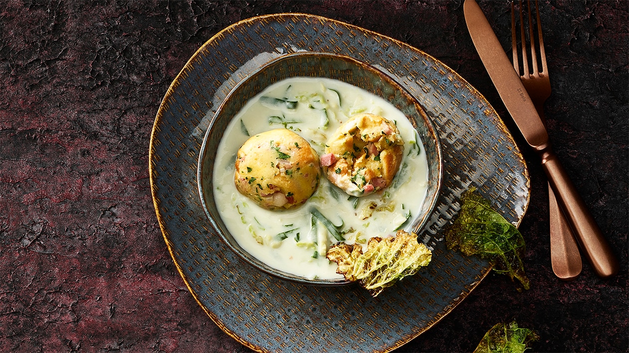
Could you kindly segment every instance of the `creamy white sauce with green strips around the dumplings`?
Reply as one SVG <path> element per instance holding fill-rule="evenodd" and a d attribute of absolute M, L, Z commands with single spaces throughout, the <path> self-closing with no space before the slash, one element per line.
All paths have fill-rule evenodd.
<path fill-rule="evenodd" d="M 317 191 L 297 209 L 266 210 L 237 191 L 235 156 L 249 136 L 291 129 L 323 155 L 328 136 L 360 112 L 395 122 L 404 139 L 400 170 L 386 190 L 350 197 L 328 182 L 322 171 Z M 216 153 L 213 184 L 221 219 L 248 253 L 272 268 L 304 278 L 342 278 L 336 273 L 337 264 L 325 258 L 337 239 L 311 217 L 311 208 L 316 207 L 334 225 L 342 225 L 338 229 L 346 243 L 366 246 L 370 237 L 394 235 L 407 219 L 410 223 L 416 217 L 426 197 L 428 163 L 420 136 L 406 116 L 386 100 L 338 80 L 298 77 L 270 85 L 234 117 Z"/>

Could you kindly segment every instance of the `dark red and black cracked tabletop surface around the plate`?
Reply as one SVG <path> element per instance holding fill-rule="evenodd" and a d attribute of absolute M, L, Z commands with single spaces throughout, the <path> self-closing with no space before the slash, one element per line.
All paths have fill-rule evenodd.
<path fill-rule="evenodd" d="M 508 48 L 509 3 L 481 8 Z M 490 274 L 400 352 L 473 350 L 494 323 L 534 350 L 629 350 L 628 3 L 543 1 L 550 136 L 621 261 L 599 279 L 550 268 L 545 176 L 472 45 L 460 1 L 0 1 L 0 350 L 242 352 L 192 299 L 164 244 L 148 180 L 160 100 L 189 57 L 240 19 L 301 12 L 442 60 L 503 116 L 530 167 L 520 230 L 532 288 Z M 499 30 L 498 30 L 499 29 Z"/>

